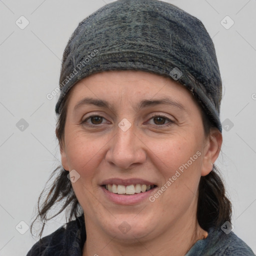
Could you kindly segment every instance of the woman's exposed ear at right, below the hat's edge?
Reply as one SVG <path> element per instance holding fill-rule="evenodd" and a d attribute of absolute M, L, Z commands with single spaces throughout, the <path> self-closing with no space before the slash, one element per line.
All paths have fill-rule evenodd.
<path fill-rule="evenodd" d="M 217 128 L 211 128 L 208 138 L 205 140 L 204 155 L 202 160 L 201 176 L 210 173 L 213 163 L 217 159 L 222 144 L 222 134 Z"/>

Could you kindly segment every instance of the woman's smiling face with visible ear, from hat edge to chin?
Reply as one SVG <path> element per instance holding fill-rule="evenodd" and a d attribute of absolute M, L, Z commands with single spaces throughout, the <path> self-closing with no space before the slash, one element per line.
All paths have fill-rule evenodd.
<path fill-rule="evenodd" d="M 210 137 L 193 96 L 170 78 L 105 71 L 76 83 L 61 161 L 86 230 L 128 241 L 192 226 L 200 176 L 221 145 L 217 129 Z"/>

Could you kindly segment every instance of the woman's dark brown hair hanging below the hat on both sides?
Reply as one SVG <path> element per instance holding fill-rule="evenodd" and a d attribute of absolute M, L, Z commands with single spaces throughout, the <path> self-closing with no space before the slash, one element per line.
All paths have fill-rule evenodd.
<path fill-rule="evenodd" d="M 63 99 L 63 107 L 58 115 L 56 123 L 55 133 L 59 145 L 62 145 L 62 141 L 64 141 L 64 126 L 66 120 L 67 105 L 69 101 L 69 92 Z M 211 120 L 209 120 L 207 114 L 199 103 L 198 106 L 202 116 L 204 135 L 205 137 L 208 137 L 210 134 L 210 128 L 215 127 L 215 125 Z M 39 195 L 37 202 L 38 212 L 30 225 L 31 233 L 32 226 L 37 218 L 39 218 L 40 222 L 42 223 L 42 227 L 39 233 L 41 237 L 45 223 L 60 214 L 64 209 L 66 213 L 66 221 L 71 221 L 73 217 L 76 218 L 83 214 L 83 209 L 81 208 L 75 196 L 71 182 L 67 178 L 67 174 L 68 172 L 64 170 L 62 165 L 59 165 L 53 170 L 47 181 L 48 183 L 55 175 L 55 178 L 49 186 L 50 188 L 46 188 L 45 185 L 44 189 Z M 44 198 L 45 192 L 47 193 L 46 198 Z M 213 169 L 209 172 L 209 174 L 201 176 L 198 185 L 198 193 L 196 214 L 198 223 L 201 228 L 207 231 L 210 227 L 214 227 L 215 229 L 219 228 L 225 221 L 231 222 L 231 202 L 226 197 L 221 175 L 215 165 L 213 165 Z M 43 201 L 41 202 L 41 200 Z M 52 216 L 48 216 L 49 210 L 54 208 L 53 206 L 59 202 L 62 202 L 62 206 L 59 211 Z"/>

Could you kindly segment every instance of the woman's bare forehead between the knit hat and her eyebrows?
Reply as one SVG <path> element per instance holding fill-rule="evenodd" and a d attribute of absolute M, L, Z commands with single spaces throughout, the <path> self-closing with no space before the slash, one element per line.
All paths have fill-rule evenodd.
<path fill-rule="evenodd" d="M 78 81 L 69 92 L 72 107 L 85 97 L 137 103 L 142 98 L 168 98 L 180 104 L 197 104 L 191 92 L 169 77 L 137 70 L 98 72 Z"/>

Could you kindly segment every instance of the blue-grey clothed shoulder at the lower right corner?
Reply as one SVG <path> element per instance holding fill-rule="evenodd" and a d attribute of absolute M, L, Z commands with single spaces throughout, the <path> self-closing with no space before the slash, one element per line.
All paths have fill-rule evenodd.
<path fill-rule="evenodd" d="M 222 230 L 215 230 L 209 237 L 211 241 L 214 241 L 214 253 L 209 255 L 214 256 L 255 256 L 252 249 L 240 239 L 234 232 L 228 234 Z M 209 245 L 212 247 L 212 243 L 209 240 Z M 212 251 L 212 249 L 209 249 Z M 213 251 L 212 251 L 213 252 Z M 208 255 L 208 254 L 207 254 Z"/>

